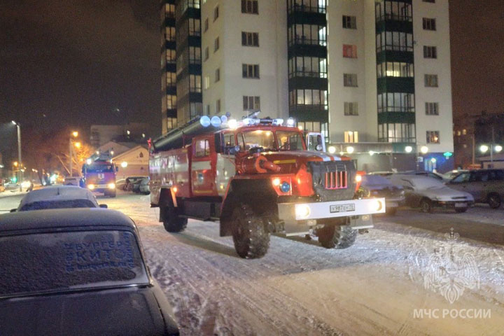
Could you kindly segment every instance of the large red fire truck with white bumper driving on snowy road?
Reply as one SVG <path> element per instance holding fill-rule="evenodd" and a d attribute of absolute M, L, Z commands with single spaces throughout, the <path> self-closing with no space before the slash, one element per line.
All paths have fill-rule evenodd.
<path fill-rule="evenodd" d="M 384 199 L 356 196 L 353 162 L 307 151 L 293 120 L 226 119 L 203 116 L 152 141 L 151 207 L 168 232 L 188 218 L 220 221 L 242 258 L 260 258 L 270 234 L 314 233 L 326 248 L 346 248 L 385 212 Z"/>

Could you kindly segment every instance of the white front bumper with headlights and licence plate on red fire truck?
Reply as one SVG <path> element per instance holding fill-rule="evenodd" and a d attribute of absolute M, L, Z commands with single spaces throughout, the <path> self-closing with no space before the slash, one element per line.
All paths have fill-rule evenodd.
<path fill-rule="evenodd" d="M 313 203 L 279 203 L 279 219 L 285 234 L 304 235 L 328 218 L 348 217 L 354 230 L 372 228 L 372 214 L 384 214 L 384 198 Z"/>

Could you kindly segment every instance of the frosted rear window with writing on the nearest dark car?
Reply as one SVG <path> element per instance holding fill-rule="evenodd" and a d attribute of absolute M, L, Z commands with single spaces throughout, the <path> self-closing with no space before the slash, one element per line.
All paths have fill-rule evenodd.
<path fill-rule="evenodd" d="M 0 237 L 0 255 L 0 297 L 149 283 L 127 231 Z"/>

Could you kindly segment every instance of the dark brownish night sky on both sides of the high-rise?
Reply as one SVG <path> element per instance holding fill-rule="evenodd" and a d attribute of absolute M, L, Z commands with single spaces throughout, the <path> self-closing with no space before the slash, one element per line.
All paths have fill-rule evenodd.
<path fill-rule="evenodd" d="M 504 0 L 449 3 L 454 118 L 504 112 Z M 4 157 L 15 131 L 2 123 L 12 119 L 26 137 L 125 116 L 160 132 L 159 18 L 158 0 L 1 0 Z"/>

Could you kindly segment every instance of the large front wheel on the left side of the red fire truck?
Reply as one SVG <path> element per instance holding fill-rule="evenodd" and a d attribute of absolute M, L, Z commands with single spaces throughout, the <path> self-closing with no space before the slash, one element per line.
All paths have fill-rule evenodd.
<path fill-rule="evenodd" d="M 239 204 L 230 218 L 235 250 L 241 258 L 262 258 L 269 248 L 269 232 L 248 204 Z"/>

